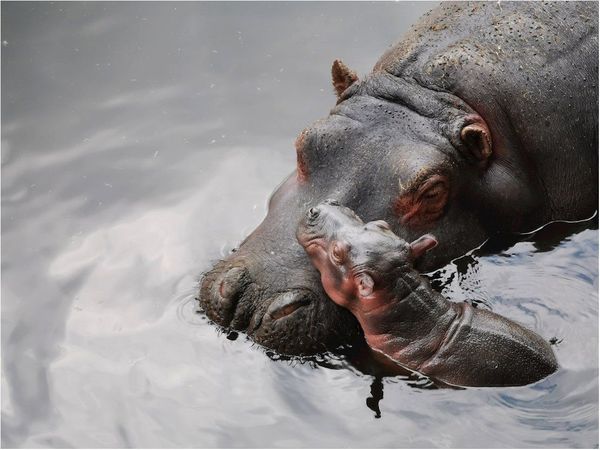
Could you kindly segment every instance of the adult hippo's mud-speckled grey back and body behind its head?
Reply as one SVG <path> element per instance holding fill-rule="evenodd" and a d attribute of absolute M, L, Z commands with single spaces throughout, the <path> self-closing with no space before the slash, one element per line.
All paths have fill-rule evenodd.
<path fill-rule="evenodd" d="M 374 71 L 465 101 L 511 166 L 535 165 L 550 216 L 571 217 L 597 202 L 597 2 L 442 3 Z M 502 179 L 501 169 L 482 186 Z"/>

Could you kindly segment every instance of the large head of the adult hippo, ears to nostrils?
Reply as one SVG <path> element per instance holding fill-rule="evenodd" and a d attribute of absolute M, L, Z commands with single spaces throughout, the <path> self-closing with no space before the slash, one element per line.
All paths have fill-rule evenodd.
<path fill-rule="evenodd" d="M 201 306 L 214 322 L 282 353 L 361 336 L 354 317 L 327 299 L 296 240 L 312 206 L 335 198 L 366 221 L 387 221 L 409 242 L 434 233 L 441 244 L 420 269 L 478 245 L 494 220 L 475 213 L 487 195 L 481 178 L 492 143 L 468 105 L 383 71 L 358 81 L 337 61 L 333 79 L 337 105 L 298 137 L 296 171 L 273 193 L 267 217 L 201 285 Z"/>

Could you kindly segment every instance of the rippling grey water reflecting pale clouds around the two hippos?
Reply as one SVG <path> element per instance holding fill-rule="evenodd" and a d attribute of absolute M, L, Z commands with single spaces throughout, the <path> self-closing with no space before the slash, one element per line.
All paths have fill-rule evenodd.
<path fill-rule="evenodd" d="M 290 360 L 197 313 L 333 59 L 367 73 L 429 6 L 2 3 L 3 446 L 598 446 L 596 220 L 431 274 L 560 341 L 532 386 Z"/>

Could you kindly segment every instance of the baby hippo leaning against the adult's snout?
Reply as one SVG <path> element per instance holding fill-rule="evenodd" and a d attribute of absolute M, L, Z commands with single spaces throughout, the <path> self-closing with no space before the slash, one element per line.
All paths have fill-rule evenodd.
<path fill-rule="evenodd" d="M 327 295 L 358 319 L 367 343 L 400 365 L 455 386 L 517 386 L 557 369 L 548 342 L 493 312 L 434 291 L 413 263 L 437 241 L 411 244 L 384 221 L 364 223 L 327 200 L 297 238 Z"/>

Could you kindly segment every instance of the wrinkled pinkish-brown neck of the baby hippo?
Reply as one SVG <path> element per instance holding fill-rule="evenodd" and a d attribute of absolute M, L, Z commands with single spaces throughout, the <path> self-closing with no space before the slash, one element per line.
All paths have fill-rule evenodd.
<path fill-rule="evenodd" d="M 370 347 L 418 368 L 437 351 L 459 310 L 416 270 L 404 268 L 388 291 L 355 315 Z"/>

